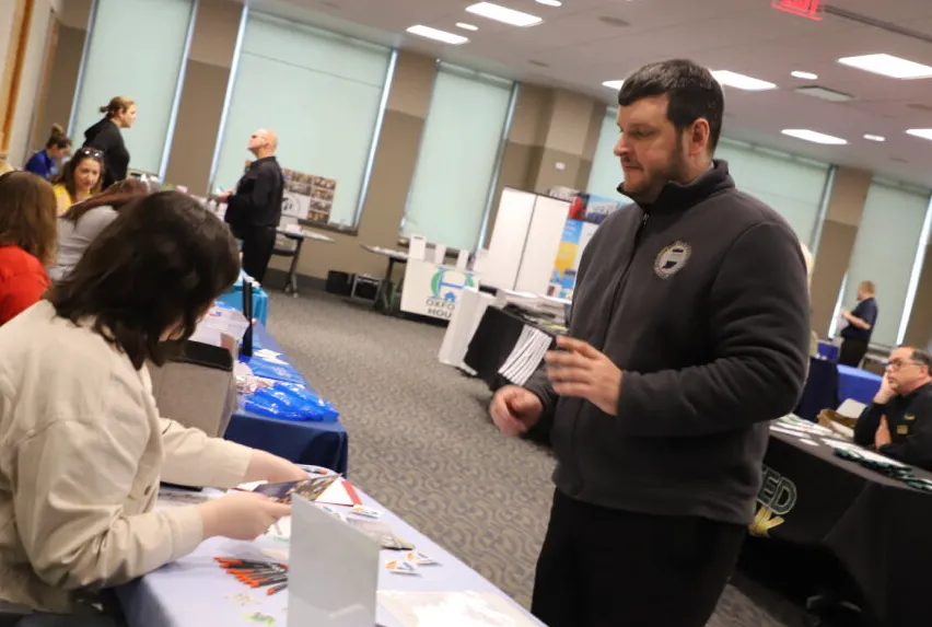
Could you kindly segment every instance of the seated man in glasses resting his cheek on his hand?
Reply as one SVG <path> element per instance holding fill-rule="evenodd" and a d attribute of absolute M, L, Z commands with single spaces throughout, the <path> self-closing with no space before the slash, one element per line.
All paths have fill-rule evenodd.
<path fill-rule="evenodd" d="M 881 388 L 854 426 L 854 441 L 879 453 L 932 471 L 932 356 L 897 347 Z"/>

